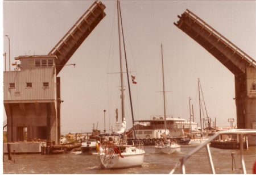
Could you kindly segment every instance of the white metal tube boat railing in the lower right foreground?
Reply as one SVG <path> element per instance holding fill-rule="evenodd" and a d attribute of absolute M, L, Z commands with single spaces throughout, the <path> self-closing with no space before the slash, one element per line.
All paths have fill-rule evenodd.
<path fill-rule="evenodd" d="M 212 171 L 212 174 L 215 174 L 215 170 L 214 170 L 214 166 L 213 166 L 213 161 L 212 161 L 212 155 L 210 153 L 209 143 L 210 143 L 210 141 L 214 140 L 215 138 L 217 138 L 219 135 L 222 135 L 222 134 L 237 134 L 237 135 L 239 135 L 239 140 L 240 140 L 240 161 L 241 161 L 241 165 L 242 165 L 242 172 L 243 172 L 243 174 L 246 174 L 245 161 L 243 160 L 243 141 L 242 140 L 243 140 L 243 135 L 246 135 L 246 134 L 256 134 L 256 130 L 251 130 L 251 129 L 236 129 L 236 130 L 226 130 L 226 131 L 216 132 L 216 134 L 214 134 L 212 137 L 210 137 L 204 143 L 202 143 L 201 145 L 199 145 L 198 147 L 193 149 L 187 155 L 185 155 L 185 156 L 180 158 L 179 163 L 180 163 L 181 173 L 185 174 L 185 162 L 189 159 L 189 157 L 195 155 L 195 153 L 197 153 L 198 151 L 200 151 L 202 148 L 205 147 L 207 149 L 207 156 L 208 156 L 208 161 L 209 161 L 209 164 L 210 164 L 210 169 Z M 176 166 L 175 166 L 174 169 L 172 169 L 170 174 L 174 173 L 175 169 L 176 169 Z"/>

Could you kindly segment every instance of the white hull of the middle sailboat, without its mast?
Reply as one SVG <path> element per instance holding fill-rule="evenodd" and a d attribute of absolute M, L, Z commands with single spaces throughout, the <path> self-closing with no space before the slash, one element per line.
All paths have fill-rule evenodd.
<path fill-rule="evenodd" d="M 161 144 L 161 142 L 156 141 L 155 153 L 156 154 L 171 154 L 180 153 L 180 145 L 175 141 L 166 140 L 166 144 Z"/>

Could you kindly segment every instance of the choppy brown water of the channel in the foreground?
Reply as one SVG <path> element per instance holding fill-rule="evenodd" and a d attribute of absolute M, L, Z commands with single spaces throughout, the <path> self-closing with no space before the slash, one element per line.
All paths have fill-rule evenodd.
<path fill-rule="evenodd" d="M 8 161 L 4 156 L 3 173 L 25 173 L 25 174 L 168 174 L 175 167 L 180 157 L 191 151 L 193 146 L 181 147 L 179 154 L 156 155 L 154 146 L 146 146 L 144 150 L 144 163 L 142 167 L 101 170 L 98 165 L 97 155 L 82 155 L 81 153 L 67 153 L 62 155 L 12 155 L 15 163 Z M 217 174 L 240 174 L 242 173 L 240 163 L 240 150 L 210 148 L 214 168 Z M 234 163 L 232 171 L 232 156 L 234 152 Z M 254 161 L 256 161 L 256 147 L 249 147 L 244 151 L 246 172 L 252 173 Z M 208 165 L 206 149 L 203 148 L 196 155 L 190 157 L 185 164 L 188 174 L 211 173 Z M 180 173 L 177 166 L 175 174 Z"/>

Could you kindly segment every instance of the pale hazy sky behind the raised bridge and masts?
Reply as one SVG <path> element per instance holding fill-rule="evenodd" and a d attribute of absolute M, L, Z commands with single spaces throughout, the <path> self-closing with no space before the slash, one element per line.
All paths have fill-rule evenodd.
<path fill-rule="evenodd" d="M 94 1 L 3 1 L 3 53 L 6 69 L 20 55 L 47 55 Z M 61 134 L 115 128 L 121 123 L 120 68 L 115 1 L 101 1 L 106 16 L 80 45 L 61 78 Z M 195 122 L 200 122 L 198 78 L 208 117 L 216 126 L 236 123 L 234 75 L 209 52 L 174 25 L 188 9 L 256 58 L 255 1 L 121 1 L 123 32 L 134 119 L 163 115 L 161 47 L 163 45 L 166 114 L 189 119 L 189 97 Z M 123 57 L 124 59 L 124 57 Z M 122 62 L 125 62 L 124 60 Z M 5 59 L 3 58 L 3 70 Z M 11 66 L 11 71 L 14 66 Z M 123 65 L 125 70 L 125 65 Z M 125 118 L 131 127 L 126 73 Z M 202 97 L 201 97 L 202 98 Z M 104 113 L 104 110 L 106 112 Z M 205 110 L 204 110 L 205 113 Z M 105 116 L 105 117 L 104 117 Z M 104 124 L 105 118 L 105 124 Z M 203 118 L 203 116 L 202 116 Z M 3 109 L 3 120 L 6 120 Z M 233 124 L 234 125 L 234 124 Z M 199 124 L 200 126 L 200 124 Z"/>

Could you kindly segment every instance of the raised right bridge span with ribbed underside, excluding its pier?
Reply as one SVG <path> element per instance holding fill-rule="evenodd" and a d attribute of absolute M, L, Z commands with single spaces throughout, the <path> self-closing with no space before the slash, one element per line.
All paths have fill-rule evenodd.
<path fill-rule="evenodd" d="M 256 62 L 236 45 L 224 38 L 192 12 L 187 11 L 178 16 L 180 20 L 174 23 L 175 26 L 216 57 L 235 76 L 245 74 L 247 67 L 256 66 Z"/>

